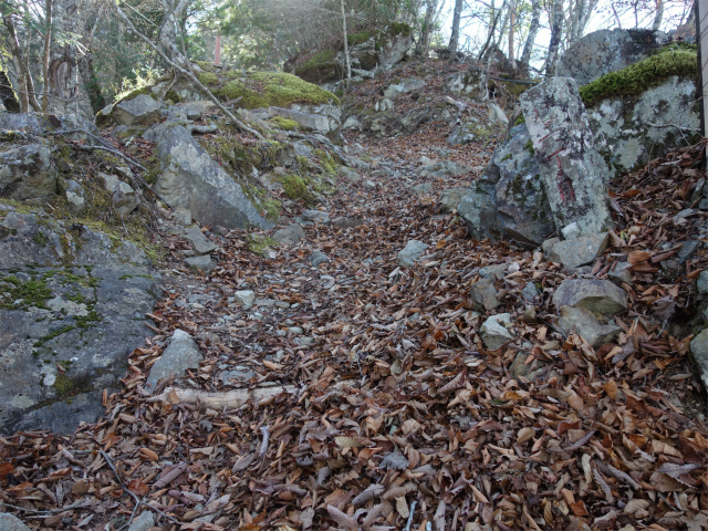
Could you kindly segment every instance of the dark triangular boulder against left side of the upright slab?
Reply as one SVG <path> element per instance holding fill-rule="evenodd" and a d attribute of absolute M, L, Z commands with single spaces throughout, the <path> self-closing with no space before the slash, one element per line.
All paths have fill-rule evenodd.
<path fill-rule="evenodd" d="M 553 220 L 525 125 L 494 149 L 481 178 L 462 197 L 458 214 L 476 239 L 510 239 L 527 248 L 541 244 Z"/>

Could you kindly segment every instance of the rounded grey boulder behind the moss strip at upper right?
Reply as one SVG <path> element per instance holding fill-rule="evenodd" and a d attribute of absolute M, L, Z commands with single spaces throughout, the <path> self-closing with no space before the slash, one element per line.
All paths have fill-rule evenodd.
<path fill-rule="evenodd" d="M 649 56 L 668 42 L 650 30 L 600 30 L 575 42 L 560 59 L 556 75 L 574 77 L 579 85 L 616 72 Z"/>

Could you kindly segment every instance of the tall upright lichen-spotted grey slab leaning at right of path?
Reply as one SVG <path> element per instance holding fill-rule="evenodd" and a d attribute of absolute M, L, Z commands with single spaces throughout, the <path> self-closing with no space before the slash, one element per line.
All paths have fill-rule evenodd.
<path fill-rule="evenodd" d="M 575 81 L 552 77 L 520 101 L 558 230 L 577 223 L 580 235 L 587 236 L 612 227 L 607 168 L 594 148 Z"/>

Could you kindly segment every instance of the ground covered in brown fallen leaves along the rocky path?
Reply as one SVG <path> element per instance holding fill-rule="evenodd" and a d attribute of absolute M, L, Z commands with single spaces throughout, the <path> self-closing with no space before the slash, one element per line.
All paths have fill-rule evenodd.
<path fill-rule="evenodd" d="M 705 177 L 704 146 L 614 184 L 613 244 L 590 277 L 628 258 L 631 308 L 620 337 L 593 348 L 558 330 L 551 296 L 573 274 L 539 251 L 470 240 L 439 210 L 440 191 L 479 173 L 421 178 L 419 157 L 483 168 L 493 148 L 446 135 L 430 122 L 410 137 L 348 138 L 372 168 L 322 209 L 356 227 L 305 227 L 269 257 L 248 252 L 247 231 L 209 232 L 220 249 L 208 277 L 183 269 L 186 242 L 167 239 L 155 335 L 125 388 L 72 436 L 0 438 L 0 507 L 62 530 L 146 530 L 140 513 L 162 530 L 708 529 L 705 392 L 688 355 L 708 256 L 701 246 L 678 272 L 658 263 L 663 244 L 700 238 L 706 215 L 676 214 Z M 431 194 L 412 192 L 426 179 Z M 402 268 L 412 239 L 429 247 Z M 315 250 L 329 262 L 312 267 Z M 510 314 L 514 340 L 488 351 L 470 285 L 498 263 L 494 313 Z M 230 300 L 247 289 L 248 310 Z M 205 357 L 191 388 L 282 392 L 238 408 L 153 400 L 142 385 L 176 329 Z"/>

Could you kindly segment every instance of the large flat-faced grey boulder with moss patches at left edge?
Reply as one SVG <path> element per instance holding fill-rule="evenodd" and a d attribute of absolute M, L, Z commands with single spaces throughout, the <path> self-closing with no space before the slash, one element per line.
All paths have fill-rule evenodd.
<path fill-rule="evenodd" d="M 0 202 L 0 433 L 95 421 L 156 291 L 134 243 Z"/>

